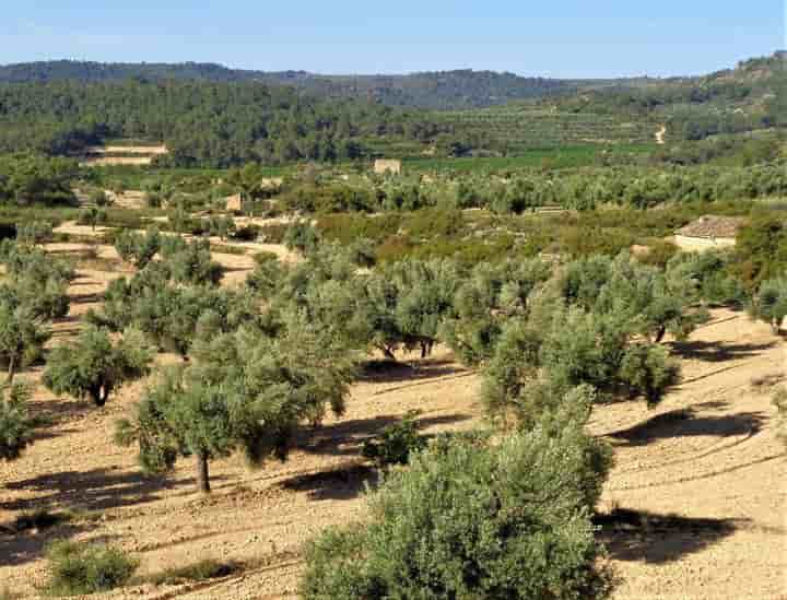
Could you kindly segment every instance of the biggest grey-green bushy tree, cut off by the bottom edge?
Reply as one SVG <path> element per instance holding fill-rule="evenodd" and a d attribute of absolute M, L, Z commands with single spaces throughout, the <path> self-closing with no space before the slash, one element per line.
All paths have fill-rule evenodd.
<path fill-rule="evenodd" d="M 304 598 L 608 597 L 587 490 L 609 463 L 589 458 L 582 422 L 418 454 L 371 497 L 366 527 L 308 546 Z"/>

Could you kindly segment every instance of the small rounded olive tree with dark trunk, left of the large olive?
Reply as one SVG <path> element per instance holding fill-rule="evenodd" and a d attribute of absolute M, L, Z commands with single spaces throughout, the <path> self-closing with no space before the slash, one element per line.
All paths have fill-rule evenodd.
<path fill-rule="evenodd" d="M 113 341 L 106 329 L 87 325 L 73 343 L 52 350 L 44 384 L 55 393 L 103 407 L 118 388 L 146 375 L 152 361 L 153 350 L 140 331 L 130 329 Z"/>

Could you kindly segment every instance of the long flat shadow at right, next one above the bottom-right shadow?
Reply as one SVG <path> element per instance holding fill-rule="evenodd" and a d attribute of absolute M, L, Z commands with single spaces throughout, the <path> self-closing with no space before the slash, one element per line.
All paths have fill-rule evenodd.
<path fill-rule="evenodd" d="M 627 430 L 608 434 L 627 446 L 645 446 L 659 439 L 685 436 L 730 437 L 754 435 L 765 421 L 761 412 L 744 412 L 720 416 L 695 416 L 691 409 L 658 414 Z"/>

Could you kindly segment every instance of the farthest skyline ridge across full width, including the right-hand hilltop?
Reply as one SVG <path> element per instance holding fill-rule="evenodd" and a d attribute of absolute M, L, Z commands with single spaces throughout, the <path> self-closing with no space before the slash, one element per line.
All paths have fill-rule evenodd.
<path fill-rule="evenodd" d="M 81 83 L 140 81 L 202 81 L 212 83 L 257 82 L 289 85 L 317 97 L 373 99 L 388 106 L 427 109 L 468 109 L 508 104 L 513 101 L 571 98 L 584 93 L 670 91 L 668 102 L 685 92 L 686 98 L 738 86 L 762 90 L 784 74 L 785 54 L 756 58 L 698 78 L 567 80 L 525 78 L 494 71 L 422 72 L 395 75 L 320 75 L 306 71 L 266 72 L 230 69 L 210 62 L 131 63 L 56 60 L 0 66 L 1 83 L 75 81 Z M 705 92 L 703 92 L 705 91 Z M 582 94 L 577 94 L 582 92 Z M 682 99 L 682 98 L 681 98 Z M 620 108 L 620 107 L 616 107 Z"/>

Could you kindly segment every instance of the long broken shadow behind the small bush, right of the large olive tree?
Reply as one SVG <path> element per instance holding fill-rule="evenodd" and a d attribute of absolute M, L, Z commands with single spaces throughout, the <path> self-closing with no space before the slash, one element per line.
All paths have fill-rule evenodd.
<path fill-rule="evenodd" d="M 436 425 L 450 425 L 471 419 L 469 414 L 445 414 L 418 419 L 420 430 Z M 295 440 L 295 446 L 307 452 L 320 455 L 349 456 L 360 455 L 361 446 L 385 427 L 400 423 L 401 415 L 385 415 L 373 419 L 353 419 L 304 432 Z"/>

